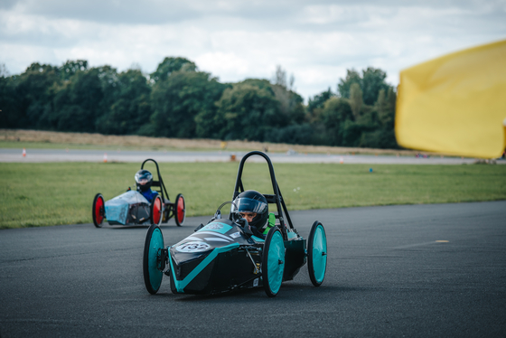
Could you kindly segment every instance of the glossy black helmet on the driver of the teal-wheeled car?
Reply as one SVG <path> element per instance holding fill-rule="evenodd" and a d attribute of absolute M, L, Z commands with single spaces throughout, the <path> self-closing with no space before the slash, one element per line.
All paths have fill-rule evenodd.
<path fill-rule="evenodd" d="M 232 212 L 256 212 L 257 216 L 249 222 L 249 225 L 262 229 L 267 223 L 268 204 L 263 194 L 254 190 L 239 193 L 232 204 Z"/>

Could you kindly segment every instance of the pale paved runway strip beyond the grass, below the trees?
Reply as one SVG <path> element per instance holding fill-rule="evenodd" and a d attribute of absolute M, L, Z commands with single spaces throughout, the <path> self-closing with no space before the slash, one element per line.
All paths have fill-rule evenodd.
<path fill-rule="evenodd" d="M 65 149 L 27 149 L 23 157 L 22 149 L 0 148 L 0 162 L 102 162 L 107 155 L 108 162 L 141 163 L 146 158 L 154 158 L 156 162 L 228 162 L 231 155 L 240 160 L 247 152 L 230 151 L 108 151 L 101 150 L 69 150 Z M 473 158 L 461 157 L 415 157 L 395 155 L 326 155 L 299 153 L 268 153 L 274 163 L 328 163 L 328 164 L 473 164 Z M 263 161 L 254 159 L 251 161 Z M 498 160 L 497 164 L 506 164 L 506 160 Z"/>

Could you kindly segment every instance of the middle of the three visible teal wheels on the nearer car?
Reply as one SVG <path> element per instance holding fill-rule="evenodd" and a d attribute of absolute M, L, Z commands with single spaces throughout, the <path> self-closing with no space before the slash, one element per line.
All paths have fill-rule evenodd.
<path fill-rule="evenodd" d="M 278 227 L 267 232 L 262 257 L 262 280 L 267 296 L 275 297 L 285 271 L 285 242 Z"/>

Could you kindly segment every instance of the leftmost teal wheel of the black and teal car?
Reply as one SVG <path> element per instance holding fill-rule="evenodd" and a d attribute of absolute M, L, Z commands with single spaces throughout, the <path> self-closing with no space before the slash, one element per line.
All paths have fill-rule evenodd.
<path fill-rule="evenodd" d="M 145 235 L 143 275 L 145 289 L 155 295 L 162 285 L 164 271 L 161 269 L 161 249 L 164 249 L 164 235 L 156 224 L 151 224 Z"/>

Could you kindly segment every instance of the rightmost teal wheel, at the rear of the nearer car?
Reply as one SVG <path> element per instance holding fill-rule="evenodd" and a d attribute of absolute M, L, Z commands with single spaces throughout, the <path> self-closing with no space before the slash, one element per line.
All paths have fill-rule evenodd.
<path fill-rule="evenodd" d="M 314 286 L 321 286 L 327 270 L 327 236 L 323 224 L 314 221 L 307 239 L 307 268 Z"/>

